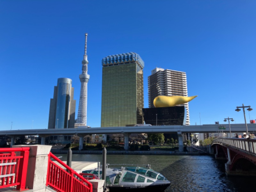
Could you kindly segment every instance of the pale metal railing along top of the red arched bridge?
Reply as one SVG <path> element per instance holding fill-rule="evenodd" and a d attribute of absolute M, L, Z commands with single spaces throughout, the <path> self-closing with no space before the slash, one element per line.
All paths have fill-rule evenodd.
<path fill-rule="evenodd" d="M 241 149 L 243 151 L 256 154 L 256 139 L 218 138 L 212 141 Z"/>

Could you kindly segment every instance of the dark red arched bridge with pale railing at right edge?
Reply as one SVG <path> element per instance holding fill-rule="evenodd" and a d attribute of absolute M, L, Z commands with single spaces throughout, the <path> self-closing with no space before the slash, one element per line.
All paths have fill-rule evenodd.
<path fill-rule="evenodd" d="M 227 160 L 227 175 L 256 176 L 256 139 L 218 138 L 211 146 L 216 159 Z"/>

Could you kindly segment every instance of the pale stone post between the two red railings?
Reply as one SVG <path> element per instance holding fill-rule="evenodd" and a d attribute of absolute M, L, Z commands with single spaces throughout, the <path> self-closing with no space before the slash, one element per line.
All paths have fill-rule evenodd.
<path fill-rule="evenodd" d="M 36 192 L 45 191 L 49 145 L 14 145 L 13 148 L 29 147 L 28 172 L 26 186 Z"/>

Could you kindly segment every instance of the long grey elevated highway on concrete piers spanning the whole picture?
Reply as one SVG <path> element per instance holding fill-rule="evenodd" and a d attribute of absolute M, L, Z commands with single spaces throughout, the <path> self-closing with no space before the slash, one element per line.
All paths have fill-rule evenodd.
<path fill-rule="evenodd" d="M 226 127 L 220 130 L 219 127 Z M 247 124 L 248 131 L 256 131 L 256 124 Z M 216 133 L 229 132 L 229 124 L 205 124 L 205 125 L 165 125 L 165 126 L 134 126 L 134 127 L 95 127 L 95 128 L 69 128 L 69 129 L 27 129 L 0 131 L 0 135 L 11 138 L 11 146 L 14 144 L 15 136 L 38 135 L 42 138 L 41 144 L 45 144 L 45 138 L 52 135 L 77 135 L 79 139 L 79 150 L 83 148 L 83 138 L 87 134 L 123 133 L 124 149 L 128 150 L 130 133 L 177 133 L 179 139 L 179 151 L 183 151 L 184 133 Z M 245 124 L 231 124 L 231 132 L 246 132 Z"/>

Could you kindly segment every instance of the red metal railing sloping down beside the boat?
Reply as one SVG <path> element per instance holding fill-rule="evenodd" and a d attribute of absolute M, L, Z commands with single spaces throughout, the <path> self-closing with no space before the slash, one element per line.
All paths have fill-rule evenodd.
<path fill-rule="evenodd" d="M 48 157 L 46 186 L 58 192 L 92 192 L 92 183 L 64 164 L 51 152 Z M 64 166 L 68 171 L 57 165 L 51 158 Z"/>

